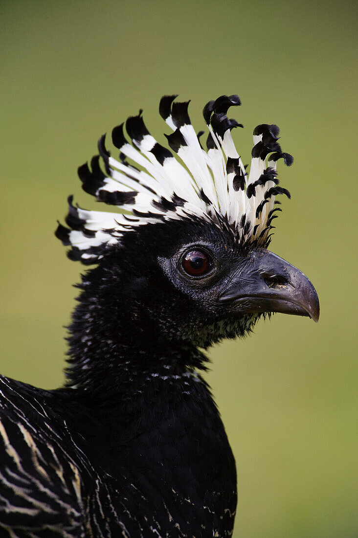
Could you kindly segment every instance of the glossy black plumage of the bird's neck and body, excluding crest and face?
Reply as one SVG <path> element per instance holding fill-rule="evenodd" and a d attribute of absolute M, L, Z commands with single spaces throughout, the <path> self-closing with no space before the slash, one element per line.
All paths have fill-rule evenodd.
<path fill-rule="evenodd" d="M 157 263 L 203 234 L 232 252 L 232 233 L 201 220 L 147 225 L 103 252 L 79 286 L 67 387 L 0 379 L 0 529 L 25 536 L 36 509 L 34 536 L 45 524 L 50 538 L 61 525 L 81 537 L 231 535 L 235 462 L 193 343 L 200 325 L 213 323 L 203 346 L 222 329 Z"/>

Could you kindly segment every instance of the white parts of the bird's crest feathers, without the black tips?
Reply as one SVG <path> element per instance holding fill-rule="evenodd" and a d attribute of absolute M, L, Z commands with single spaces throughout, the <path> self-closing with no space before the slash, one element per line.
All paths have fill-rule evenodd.
<path fill-rule="evenodd" d="M 173 131 L 176 131 L 177 126 L 171 114 L 165 122 Z M 86 251 L 103 244 L 113 244 L 123 233 L 135 230 L 137 226 L 157 223 L 158 220 L 190 218 L 194 215 L 212 222 L 217 222 L 216 215 L 222 215 L 227 218 L 231 226 L 234 226 L 240 237 L 243 232 L 242 217 L 245 215 L 245 222 L 251 223 L 249 231 L 245 234 L 245 240 L 258 238 L 267 226 L 268 215 L 273 208 L 275 196 L 271 196 L 264 204 L 258 217 L 256 217 L 256 209 L 264 201 L 267 190 L 275 186 L 275 183 L 268 181 L 264 186 L 256 186 L 255 195 L 250 198 L 247 196 L 246 189 L 260 178 L 267 166 L 276 170 L 276 162 L 269 160 L 266 165 L 266 159 L 252 158 L 249 175 L 245 175 L 244 179 L 245 188 L 236 191 L 233 186 L 235 171 L 227 173 L 227 160 L 238 159 L 243 175 L 245 170 L 230 129 L 224 132 L 222 138 L 215 133 L 210 124 L 208 129 L 215 147 L 205 151 L 200 146 L 193 126 L 189 123 L 180 126 L 179 131 L 186 145 L 179 146 L 177 155 L 184 166 L 175 156 L 167 156 L 163 163 L 159 162 L 151 151 L 157 144 L 151 134 L 144 134 L 141 140 L 132 139 L 132 144 L 126 141 L 120 147 L 120 152 L 138 165 L 139 169 L 132 166 L 130 162 L 120 162 L 113 157 L 108 158 L 109 166 L 106 166 L 106 169 L 110 175 L 104 179 L 99 178 L 102 186 L 96 191 L 97 198 L 100 198 L 101 192 L 134 192 L 134 195 L 132 199 L 128 198 L 131 203 L 120 205 L 121 210 L 128 212 L 127 215 L 74 208 L 79 219 L 83 221 L 83 232 L 81 230 L 69 231 L 68 240 L 81 250 L 83 259 L 97 259 L 99 257 L 97 254 Z M 262 137 L 262 134 L 255 134 L 254 145 L 261 141 Z M 202 200 L 201 190 L 210 203 Z M 176 196 L 181 201 L 176 201 Z M 118 201 L 120 199 L 121 196 L 118 196 Z M 121 201 L 126 202 L 125 196 Z M 174 206 L 170 207 L 172 202 L 177 202 L 174 209 L 172 209 Z M 133 213 L 134 210 L 135 213 Z M 257 228 L 255 237 L 252 236 L 254 226 Z M 95 232 L 94 237 L 86 237 L 86 230 Z M 268 233 L 269 231 L 260 239 L 263 244 Z"/>

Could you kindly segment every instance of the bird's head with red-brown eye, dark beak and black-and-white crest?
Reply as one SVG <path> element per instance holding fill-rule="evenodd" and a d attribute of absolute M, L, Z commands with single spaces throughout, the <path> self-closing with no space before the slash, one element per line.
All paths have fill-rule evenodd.
<path fill-rule="evenodd" d="M 245 334 L 261 315 L 275 312 L 318 321 L 310 280 L 268 250 L 281 210 L 276 196 L 290 197 L 278 186 L 277 161 L 293 161 L 278 144 L 278 127 L 255 128 L 247 173 L 231 137 L 242 125 L 227 116 L 239 98 L 221 96 L 205 105 L 204 150 L 188 103 L 176 97 L 165 96 L 159 105 L 172 151 L 151 136 L 140 111 L 125 123 L 131 141 L 124 124 L 112 132 L 119 159 L 103 136 L 99 155 L 78 170 L 87 193 L 119 208 L 87 211 L 70 197 L 68 228 L 60 224 L 56 232 L 71 246 L 69 258 L 97 264 L 82 284 L 96 296 L 92 308 L 101 304 L 106 320 L 121 319 L 128 345 L 135 334 L 136 342 L 155 345 L 159 338 L 206 348 Z"/>

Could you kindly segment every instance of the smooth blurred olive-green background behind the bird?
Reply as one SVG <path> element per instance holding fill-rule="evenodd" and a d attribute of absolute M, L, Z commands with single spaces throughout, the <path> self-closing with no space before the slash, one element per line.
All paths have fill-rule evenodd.
<path fill-rule="evenodd" d="M 258 123 L 277 123 L 294 166 L 272 250 L 312 280 L 316 325 L 277 314 L 210 351 L 207 379 L 238 470 L 235 536 L 358 536 L 354 250 L 354 2 L 2 2 L 1 372 L 63 381 L 64 325 L 81 267 L 55 239 L 78 165 L 96 140 L 159 98 L 201 108 L 238 93 L 249 162 Z"/>

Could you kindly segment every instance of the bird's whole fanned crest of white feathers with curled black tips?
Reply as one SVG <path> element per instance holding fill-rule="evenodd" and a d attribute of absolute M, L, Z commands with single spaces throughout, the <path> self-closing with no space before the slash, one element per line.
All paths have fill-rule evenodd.
<path fill-rule="evenodd" d="M 242 124 L 227 116 L 230 107 L 241 104 L 238 96 L 222 95 L 205 105 L 206 151 L 191 125 L 189 102 L 176 102 L 176 97 L 164 96 L 159 104 L 159 113 L 172 130 L 165 134 L 170 150 L 151 136 L 141 110 L 125 122 L 130 141 L 123 123 L 112 131 L 113 144 L 120 151 L 118 160 L 111 157 L 102 136 L 99 155 L 90 165 L 79 167 L 83 189 L 98 201 L 120 208 L 121 213 L 87 211 L 73 206 L 70 197 L 69 228 L 60 224 L 56 235 L 72 246 L 71 259 L 96 263 L 107 245 L 137 226 L 194 217 L 218 226 L 224 223 L 241 243 L 268 245 L 271 222 L 279 210 L 273 207 L 275 197 L 290 197 L 277 186 L 276 163 L 280 158 L 287 166 L 293 162 L 278 144 L 277 125 L 261 124 L 254 129 L 247 173 L 231 136 L 231 130 Z"/>

